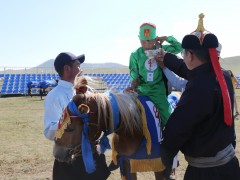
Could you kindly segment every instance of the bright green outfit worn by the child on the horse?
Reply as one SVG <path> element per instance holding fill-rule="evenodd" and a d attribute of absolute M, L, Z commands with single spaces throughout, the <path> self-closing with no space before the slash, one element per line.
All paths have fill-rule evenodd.
<path fill-rule="evenodd" d="M 181 43 L 174 37 L 168 36 L 166 39 L 168 45 L 162 45 L 162 48 L 170 53 L 178 54 L 182 51 Z M 156 47 L 153 47 L 156 49 Z M 139 95 L 148 96 L 157 106 L 160 112 L 162 125 L 165 126 L 171 114 L 171 109 L 167 101 L 166 87 L 163 81 L 162 69 L 158 67 L 155 59 L 149 60 L 142 47 L 132 52 L 129 63 L 130 81 L 138 78 Z"/>

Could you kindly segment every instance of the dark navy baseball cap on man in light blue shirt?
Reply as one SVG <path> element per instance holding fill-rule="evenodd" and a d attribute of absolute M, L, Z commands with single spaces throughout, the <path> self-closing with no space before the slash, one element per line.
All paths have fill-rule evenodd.
<path fill-rule="evenodd" d="M 59 73 L 66 64 L 69 64 L 70 62 L 75 60 L 78 60 L 82 64 L 85 60 L 85 55 L 82 54 L 79 56 L 75 56 L 70 52 L 62 52 L 56 57 L 54 61 L 55 70 Z"/>

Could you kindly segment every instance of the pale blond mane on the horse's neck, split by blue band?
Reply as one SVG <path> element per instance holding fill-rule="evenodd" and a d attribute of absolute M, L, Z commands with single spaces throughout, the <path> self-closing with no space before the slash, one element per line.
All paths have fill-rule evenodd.
<path fill-rule="evenodd" d="M 126 133 L 134 134 L 135 132 L 142 133 L 142 117 L 141 111 L 136 104 L 136 96 L 132 93 L 112 93 L 117 101 L 119 108 L 120 127 Z M 98 105 L 98 123 L 104 120 L 105 125 L 109 124 L 110 130 L 113 131 L 113 109 L 111 106 L 110 97 L 106 93 L 91 94 Z"/>

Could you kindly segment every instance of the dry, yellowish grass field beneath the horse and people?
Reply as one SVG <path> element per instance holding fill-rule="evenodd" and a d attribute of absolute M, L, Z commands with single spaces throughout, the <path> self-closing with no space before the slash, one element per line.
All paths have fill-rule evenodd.
<path fill-rule="evenodd" d="M 240 89 L 237 90 L 240 106 Z M 43 101 L 40 97 L 0 98 L 0 179 L 51 179 L 53 142 L 43 135 Z M 237 157 L 240 159 L 240 117 L 236 123 Z M 108 163 L 111 152 L 106 153 Z M 177 179 L 183 179 L 186 162 L 180 153 Z M 152 173 L 138 174 L 140 180 L 154 179 Z M 119 170 L 108 178 L 121 179 Z"/>

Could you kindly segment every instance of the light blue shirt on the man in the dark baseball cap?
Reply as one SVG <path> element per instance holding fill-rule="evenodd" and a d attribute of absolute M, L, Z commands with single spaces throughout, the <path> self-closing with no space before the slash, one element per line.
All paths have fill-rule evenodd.
<path fill-rule="evenodd" d="M 75 95 L 73 84 L 59 80 L 58 85 L 51 90 L 44 101 L 44 135 L 49 140 L 54 140 L 58 121 L 69 101 Z"/>

